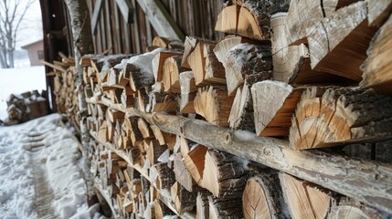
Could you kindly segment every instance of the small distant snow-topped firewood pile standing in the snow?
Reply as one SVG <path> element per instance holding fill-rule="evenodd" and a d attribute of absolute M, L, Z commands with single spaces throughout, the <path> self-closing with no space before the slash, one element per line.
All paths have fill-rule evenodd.
<path fill-rule="evenodd" d="M 6 100 L 8 118 L 6 125 L 15 125 L 27 120 L 48 115 L 46 91 L 26 91 L 21 94 L 11 94 Z"/>

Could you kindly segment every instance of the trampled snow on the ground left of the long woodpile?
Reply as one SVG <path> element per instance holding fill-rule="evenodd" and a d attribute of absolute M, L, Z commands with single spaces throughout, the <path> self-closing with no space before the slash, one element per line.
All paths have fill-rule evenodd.
<path fill-rule="evenodd" d="M 86 203 L 79 144 L 69 130 L 58 126 L 59 120 L 59 114 L 51 114 L 20 125 L 0 127 L 2 218 L 41 217 L 39 209 L 42 210 L 43 203 L 37 201 L 40 198 L 37 175 L 44 176 L 48 182 L 45 188 L 54 197 L 47 200 L 48 208 L 56 214 L 53 218 L 103 218 L 97 213 L 98 203 L 90 208 Z M 41 178 L 39 182 L 45 184 Z"/>

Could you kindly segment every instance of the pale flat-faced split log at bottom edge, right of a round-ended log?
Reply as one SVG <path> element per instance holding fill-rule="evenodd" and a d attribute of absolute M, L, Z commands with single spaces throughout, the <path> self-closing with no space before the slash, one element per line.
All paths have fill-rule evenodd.
<path fill-rule="evenodd" d="M 291 218 L 325 218 L 330 210 L 331 196 L 320 186 L 306 183 L 281 173 L 281 188 Z M 341 218 L 341 217 L 338 217 Z"/>

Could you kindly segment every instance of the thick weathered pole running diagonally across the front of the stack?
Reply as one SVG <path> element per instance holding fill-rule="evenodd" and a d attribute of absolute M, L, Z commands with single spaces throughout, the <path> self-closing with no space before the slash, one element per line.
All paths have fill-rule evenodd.
<path fill-rule="evenodd" d="M 355 160 L 323 151 L 293 151 L 288 148 L 288 141 L 259 138 L 246 130 L 230 130 L 207 121 L 164 113 L 127 111 L 143 117 L 160 130 L 260 162 L 392 213 L 392 164 Z"/>

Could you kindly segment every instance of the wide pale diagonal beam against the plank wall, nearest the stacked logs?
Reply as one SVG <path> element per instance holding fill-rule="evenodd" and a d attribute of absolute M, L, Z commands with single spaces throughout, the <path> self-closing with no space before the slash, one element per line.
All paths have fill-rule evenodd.
<path fill-rule="evenodd" d="M 159 36 L 184 41 L 185 35 L 160 0 L 136 0 Z"/>

